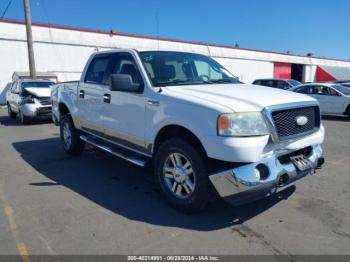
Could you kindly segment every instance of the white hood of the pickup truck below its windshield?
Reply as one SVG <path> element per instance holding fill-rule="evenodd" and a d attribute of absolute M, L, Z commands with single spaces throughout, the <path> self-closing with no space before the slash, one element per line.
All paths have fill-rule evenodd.
<path fill-rule="evenodd" d="M 316 101 L 291 91 L 246 84 L 168 86 L 165 89 L 169 95 L 216 103 L 234 112 L 261 111 L 272 105 Z"/>

